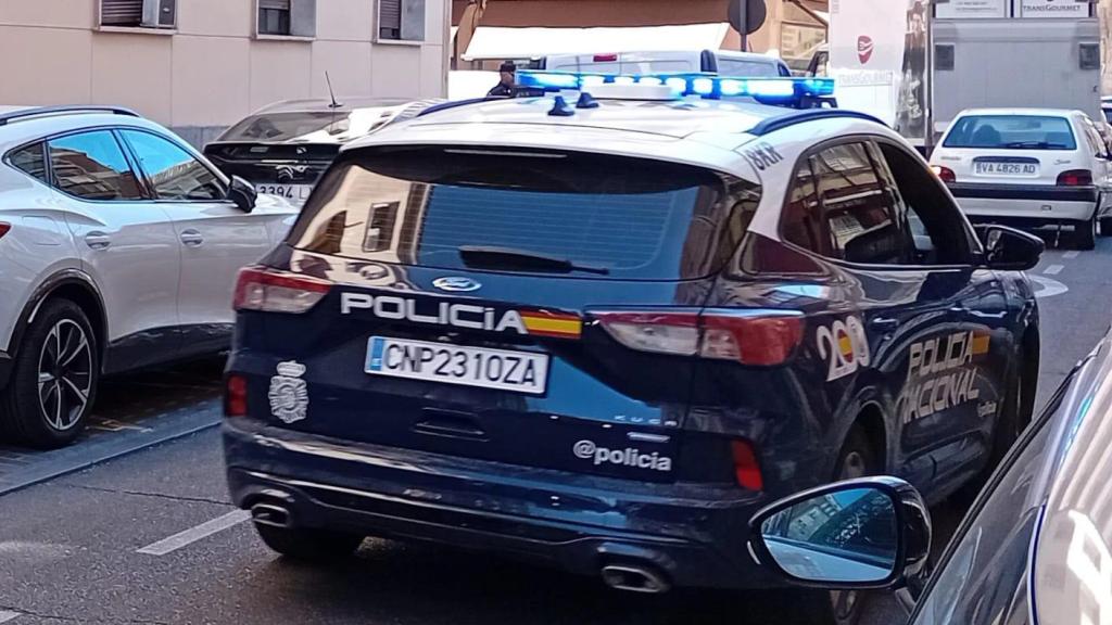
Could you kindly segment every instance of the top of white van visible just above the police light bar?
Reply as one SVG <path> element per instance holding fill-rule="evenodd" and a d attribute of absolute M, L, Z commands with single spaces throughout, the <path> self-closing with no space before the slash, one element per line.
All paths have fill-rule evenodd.
<path fill-rule="evenodd" d="M 549 54 L 534 63 L 536 69 L 598 73 L 711 72 L 719 76 L 792 76 L 787 63 L 766 54 L 731 50 L 672 50 L 608 52 L 596 54 Z"/>

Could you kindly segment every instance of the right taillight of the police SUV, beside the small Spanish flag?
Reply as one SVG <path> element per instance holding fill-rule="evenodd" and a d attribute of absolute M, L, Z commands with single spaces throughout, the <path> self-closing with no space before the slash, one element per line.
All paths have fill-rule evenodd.
<path fill-rule="evenodd" d="M 595 312 L 615 340 L 641 351 L 780 365 L 803 339 L 803 317 L 778 310 Z"/>

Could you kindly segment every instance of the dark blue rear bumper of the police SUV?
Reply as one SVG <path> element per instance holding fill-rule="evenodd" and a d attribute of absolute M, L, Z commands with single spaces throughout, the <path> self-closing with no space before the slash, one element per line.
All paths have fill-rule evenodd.
<path fill-rule="evenodd" d="M 252 419 L 226 421 L 232 502 L 280 502 L 291 523 L 426 540 L 598 575 L 649 565 L 678 586 L 783 583 L 745 543 L 765 498 L 737 488 L 631 484 L 353 445 Z"/>

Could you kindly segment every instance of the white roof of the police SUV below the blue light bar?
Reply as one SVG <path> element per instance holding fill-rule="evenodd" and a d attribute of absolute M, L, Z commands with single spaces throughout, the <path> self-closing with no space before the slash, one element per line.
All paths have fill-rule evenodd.
<path fill-rule="evenodd" d="M 598 102 L 597 108 L 574 109 L 574 115 L 567 117 L 548 115 L 554 107 L 553 97 L 449 106 L 357 139 L 344 150 L 386 145 L 580 150 L 685 162 L 752 179 L 752 167 L 735 149 L 754 140 L 754 129 L 762 125 L 802 112 L 743 100 Z M 886 131 L 878 122 L 867 123 L 878 132 Z M 822 128 L 816 121 L 816 136 L 823 135 Z"/>

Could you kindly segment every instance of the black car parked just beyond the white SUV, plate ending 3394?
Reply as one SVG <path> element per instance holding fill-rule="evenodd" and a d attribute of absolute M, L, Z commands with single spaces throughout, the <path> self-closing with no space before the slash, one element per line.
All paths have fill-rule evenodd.
<path fill-rule="evenodd" d="M 399 98 L 276 102 L 232 125 L 203 152 L 226 175 L 242 177 L 258 192 L 300 206 L 340 146 L 437 102 Z"/>

